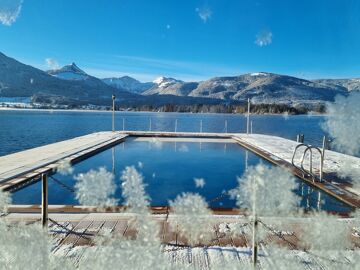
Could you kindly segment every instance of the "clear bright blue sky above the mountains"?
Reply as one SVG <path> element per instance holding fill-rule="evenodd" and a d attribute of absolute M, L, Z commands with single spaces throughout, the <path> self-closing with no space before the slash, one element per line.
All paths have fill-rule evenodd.
<path fill-rule="evenodd" d="M 0 51 L 141 81 L 360 77 L 359 14 L 357 0 L 0 0 Z"/>

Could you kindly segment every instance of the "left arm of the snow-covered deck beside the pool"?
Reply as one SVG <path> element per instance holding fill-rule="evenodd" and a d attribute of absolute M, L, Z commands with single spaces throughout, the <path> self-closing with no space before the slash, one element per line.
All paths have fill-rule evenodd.
<path fill-rule="evenodd" d="M 127 135 L 98 132 L 0 157 L 0 189 L 10 190 L 51 172 L 63 159 L 74 163 L 107 149 Z"/>

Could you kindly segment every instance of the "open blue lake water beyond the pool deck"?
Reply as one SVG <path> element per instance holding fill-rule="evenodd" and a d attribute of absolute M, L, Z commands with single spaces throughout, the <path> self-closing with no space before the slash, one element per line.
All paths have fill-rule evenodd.
<path fill-rule="evenodd" d="M 230 114 L 183 114 L 183 113 L 116 113 L 116 127 L 126 130 L 177 131 L 200 130 L 204 132 L 245 132 L 244 115 Z M 323 116 L 253 115 L 253 132 L 278 135 L 295 140 L 299 133 L 305 134 L 305 141 L 320 145 Z M 0 110 L 0 156 L 40 145 L 54 143 L 96 131 L 111 130 L 110 112 L 74 111 L 1 111 Z"/>

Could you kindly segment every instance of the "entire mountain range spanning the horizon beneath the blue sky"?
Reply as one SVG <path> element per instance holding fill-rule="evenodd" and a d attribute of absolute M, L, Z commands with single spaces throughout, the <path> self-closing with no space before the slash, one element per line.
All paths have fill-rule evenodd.
<path fill-rule="evenodd" d="M 53 104 L 110 104 L 115 94 L 126 105 L 253 103 L 288 105 L 333 101 L 360 90 L 360 79 L 304 80 L 267 72 L 184 82 L 160 77 L 140 82 L 129 76 L 99 79 L 75 63 L 42 71 L 0 53 L 0 97 L 31 97 Z"/>

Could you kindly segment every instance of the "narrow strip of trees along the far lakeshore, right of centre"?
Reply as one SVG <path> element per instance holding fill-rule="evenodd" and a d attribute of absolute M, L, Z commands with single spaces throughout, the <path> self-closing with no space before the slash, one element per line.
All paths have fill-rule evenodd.
<path fill-rule="evenodd" d="M 129 109 L 129 108 L 128 108 Z M 164 106 L 144 105 L 132 107 L 132 111 L 157 111 L 157 112 L 191 112 L 191 113 L 246 113 L 247 104 L 195 104 L 176 105 L 167 104 Z M 306 114 L 309 111 L 325 113 L 324 104 L 297 105 L 296 107 L 286 104 L 251 104 L 250 112 L 254 114 Z"/>

